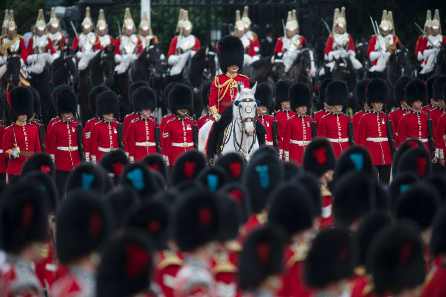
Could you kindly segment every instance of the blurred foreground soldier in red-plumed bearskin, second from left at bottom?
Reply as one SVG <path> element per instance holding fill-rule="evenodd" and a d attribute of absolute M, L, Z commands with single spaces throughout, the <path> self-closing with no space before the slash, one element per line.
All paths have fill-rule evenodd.
<path fill-rule="evenodd" d="M 83 173 L 82 179 L 89 183 L 91 177 L 93 174 Z M 91 191 L 68 194 L 56 227 L 57 257 L 67 271 L 52 285 L 51 296 L 95 296 L 99 251 L 111 235 L 110 215 L 105 202 Z"/>

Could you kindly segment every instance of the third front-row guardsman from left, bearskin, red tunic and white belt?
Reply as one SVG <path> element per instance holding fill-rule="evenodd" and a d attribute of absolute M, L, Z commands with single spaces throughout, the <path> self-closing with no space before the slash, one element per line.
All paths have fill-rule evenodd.
<path fill-rule="evenodd" d="M 113 118 L 119 113 L 119 98 L 113 91 L 99 93 L 96 113 L 101 118 L 91 131 L 88 140 L 91 161 L 96 164 L 107 152 L 119 148 L 118 124 Z"/>

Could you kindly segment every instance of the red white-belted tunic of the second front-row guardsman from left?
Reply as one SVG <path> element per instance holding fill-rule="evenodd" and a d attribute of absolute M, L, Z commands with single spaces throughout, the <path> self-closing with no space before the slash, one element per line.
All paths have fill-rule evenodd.
<path fill-rule="evenodd" d="M 48 132 L 48 153 L 54 156 L 57 170 L 71 171 L 81 163 L 77 138 L 78 124 L 74 121 L 58 120 Z M 87 147 L 87 139 L 82 133 L 82 145 Z"/>

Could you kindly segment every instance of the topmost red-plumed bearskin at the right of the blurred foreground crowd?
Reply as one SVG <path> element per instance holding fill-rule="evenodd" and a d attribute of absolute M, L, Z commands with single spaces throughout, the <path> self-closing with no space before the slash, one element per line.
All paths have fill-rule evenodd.
<path fill-rule="evenodd" d="M 398 160 L 396 174 L 400 172 L 413 172 L 419 178 L 424 178 L 431 174 L 432 162 L 426 148 L 410 148 L 401 155 Z"/>

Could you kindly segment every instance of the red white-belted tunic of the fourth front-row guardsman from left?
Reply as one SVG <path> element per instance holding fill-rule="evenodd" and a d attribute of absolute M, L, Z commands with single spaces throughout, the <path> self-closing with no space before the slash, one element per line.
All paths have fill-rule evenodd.
<path fill-rule="evenodd" d="M 129 148 L 129 156 L 135 162 L 151 153 L 156 153 L 155 145 L 155 120 L 143 117 L 130 122 L 126 133 L 126 143 Z"/>

